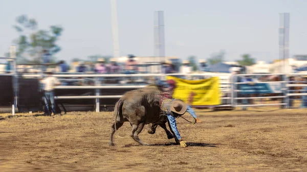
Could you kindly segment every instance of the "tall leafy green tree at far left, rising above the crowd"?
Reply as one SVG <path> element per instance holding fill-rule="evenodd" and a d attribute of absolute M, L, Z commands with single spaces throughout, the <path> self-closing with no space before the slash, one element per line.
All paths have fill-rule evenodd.
<path fill-rule="evenodd" d="M 27 15 L 18 16 L 16 22 L 13 28 L 19 33 L 19 37 L 13 42 L 17 45 L 17 62 L 40 63 L 42 50 L 49 50 L 52 56 L 61 51 L 56 41 L 61 36 L 62 27 L 51 26 L 49 30 L 38 30 L 36 20 L 29 19 Z"/>

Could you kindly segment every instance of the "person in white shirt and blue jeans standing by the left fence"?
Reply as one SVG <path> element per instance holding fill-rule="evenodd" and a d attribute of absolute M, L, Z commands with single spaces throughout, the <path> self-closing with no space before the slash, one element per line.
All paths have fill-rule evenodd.
<path fill-rule="evenodd" d="M 56 114 L 56 111 L 55 111 L 55 103 L 54 103 L 54 87 L 57 86 L 57 85 L 60 85 L 60 82 L 58 81 L 57 78 L 53 77 L 52 74 L 53 72 L 52 71 L 46 71 L 46 77 L 43 78 L 40 82 L 44 85 L 44 100 L 45 100 L 45 111 L 47 113 L 50 112 L 50 109 L 49 109 L 49 102 L 51 103 L 51 116 L 55 115 Z"/>

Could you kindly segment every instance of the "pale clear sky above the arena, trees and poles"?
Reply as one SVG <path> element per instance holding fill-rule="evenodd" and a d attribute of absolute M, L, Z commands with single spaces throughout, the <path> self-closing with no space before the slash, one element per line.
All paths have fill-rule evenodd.
<path fill-rule="evenodd" d="M 153 14 L 164 11 L 166 56 L 207 59 L 220 50 L 233 61 L 249 53 L 278 59 L 279 13 L 290 13 L 290 56 L 307 54 L 306 0 L 118 0 L 120 55 L 153 56 Z M 15 18 L 27 14 L 39 29 L 59 24 L 57 59 L 113 55 L 109 0 L 0 0 L 0 56 L 18 36 Z"/>

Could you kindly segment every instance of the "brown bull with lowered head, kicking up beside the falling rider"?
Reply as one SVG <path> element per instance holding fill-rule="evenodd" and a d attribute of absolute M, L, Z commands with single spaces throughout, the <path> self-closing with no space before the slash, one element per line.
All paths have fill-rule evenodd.
<path fill-rule="evenodd" d="M 111 126 L 111 135 L 109 145 L 114 145 L 113 136 L 124 122 L 130 122 L 132 130 L 130 137 L 142 145 L 148 145 L 139 138 L 139 133 L 146 124 L 155 124 L 161 126 L 167 138 L 173 138 L 173 135 L 166 129 L 166 116 L 161 115 L 160 109 L 160 90 L 157 87 L 145 87 L 126 92 L 116 103 L 114 108 L 114 122 Z M 156 130 L 155 128 L 155 130 Z M 148 129 L 148 133 L 153 134 L 155 130 Z"/>

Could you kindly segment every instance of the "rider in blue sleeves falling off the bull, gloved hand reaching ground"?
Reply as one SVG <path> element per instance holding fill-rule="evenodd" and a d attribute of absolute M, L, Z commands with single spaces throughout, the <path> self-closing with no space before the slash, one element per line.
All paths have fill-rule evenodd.
<path fill-rule="evenodd" d="M 194 111 L 189 108 L 189 106 L 179 99 L 165 99 L 160 104 L 161 110 L 164 115 L 167 116 L 169 121 L 169 125 L 171 130 L 176 135 L 177 139 L 180 142 L 181 147 L 185 148 L 187 146 L 184 139 L 181 137 L 176 124 L 176 118 L 185 114 L 185 112 L 189 112 L 191 116 L 194 118 L 194 123 L 201 122 L 197 117 Z"/>

